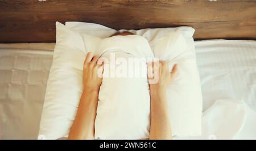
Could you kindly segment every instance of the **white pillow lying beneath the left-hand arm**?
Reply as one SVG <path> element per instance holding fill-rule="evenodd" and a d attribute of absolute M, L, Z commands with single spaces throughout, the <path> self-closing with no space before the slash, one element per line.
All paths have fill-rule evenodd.
<path fill-rule="evenodd" d="M 56 45 L 49 72 L 38 139 L 67 137 L 82 92 L 86 51 L 79 33 L 56 23 Z"/>

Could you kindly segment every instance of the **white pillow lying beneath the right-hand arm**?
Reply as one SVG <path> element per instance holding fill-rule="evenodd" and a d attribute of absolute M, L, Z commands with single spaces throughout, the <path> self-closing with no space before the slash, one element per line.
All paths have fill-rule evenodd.
<path fill-rule="evenodd" d="M 201 135 L 203 101 L 194 46 L 188 45 L 179 32 L 150 42 L 155 57 L 168 62 L 169 71 L 178 64 L 178 74 L 167 89 L 172 134 Z"/>

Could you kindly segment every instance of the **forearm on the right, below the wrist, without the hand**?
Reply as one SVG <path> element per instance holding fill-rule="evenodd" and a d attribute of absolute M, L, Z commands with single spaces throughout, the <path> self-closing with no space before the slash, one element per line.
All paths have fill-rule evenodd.
<path fill-rule="evenodd" d="M 151 90 L 150 139 L 172 139 L 166 90 Z"/>

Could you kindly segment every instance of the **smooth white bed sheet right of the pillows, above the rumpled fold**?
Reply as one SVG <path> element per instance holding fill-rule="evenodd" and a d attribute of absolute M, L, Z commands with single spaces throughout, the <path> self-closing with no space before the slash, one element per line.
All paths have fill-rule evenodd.
<path fill-rule="evenodd" d="M 245 125 L 234 139 L 256 139 L 256 41 L 207 40 L 195 46 L 203 109 L 218 99 L 243 99 Z"/>

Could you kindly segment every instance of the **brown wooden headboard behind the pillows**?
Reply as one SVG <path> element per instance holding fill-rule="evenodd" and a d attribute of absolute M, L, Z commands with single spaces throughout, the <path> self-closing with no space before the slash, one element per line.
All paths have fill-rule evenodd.
<path fill-rule="evenodd" d="M 114 29 L 191 26 L 196 40 L 256 39 L 255 0 L 0 0 L 0 42 L 54 42 L 55 21 Z"/>

